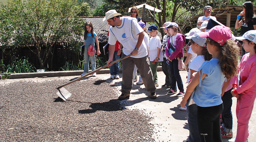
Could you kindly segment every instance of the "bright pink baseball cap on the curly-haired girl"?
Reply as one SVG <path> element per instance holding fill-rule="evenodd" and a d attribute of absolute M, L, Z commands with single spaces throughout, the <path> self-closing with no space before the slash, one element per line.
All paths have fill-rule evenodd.
<path fill-rule="evenodd" d="M 223 46 L 228 39 L 232 39 L 232 33 L 229 27 L 217 25 L 210 29 L 208 32 L 201 33 L 200 37 L 209 37 Z"/>

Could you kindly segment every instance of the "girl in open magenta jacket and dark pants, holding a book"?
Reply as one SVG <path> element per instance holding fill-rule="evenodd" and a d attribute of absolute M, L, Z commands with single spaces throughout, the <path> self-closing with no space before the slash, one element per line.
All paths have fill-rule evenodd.
<path fill-rule="evenodd" d="M 180 27 L 178 26 L 177 23 L 171 22 L 167 29 L 170 34 L 170 37 L 165 47 L 165 54 L 166 57 L 168 57 L 169 59 L 172 78 L 171 91 L 169 91 L 167 94 L 177 93 L 177 82 L 180 92 L 176 96 L 182 97 L 184 95 L 184 88 L 180 77 L 180 71 L 178 69 L 178 58 L 181 59 L 183 57 L 183 46 L 185 45 L 186 40 L 185 36 L 181 34 Z M 171 55 L 169 54 L 169 49 L 172 49 L 174 51 Z"/>

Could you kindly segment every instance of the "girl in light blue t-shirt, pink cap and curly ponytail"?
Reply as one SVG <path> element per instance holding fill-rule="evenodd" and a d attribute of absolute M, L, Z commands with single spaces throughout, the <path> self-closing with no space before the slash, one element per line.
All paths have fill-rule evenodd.
<path fill-rule="evenodd" d="M 207 50 L 212 54 L 212 59 L 205 61 L 198 69 L 196 76 L 188 84 L 185 96 L 190 96 L 196 88 L 193 101 L 197 105 L 197 126 L 201 142 L 221 142 L 221 85 L 226 78 L 236 75 L 236 57 L 239 52 L 236 43 L 231 40 L 231 31 L 226 26 L 215 26 L 209 32 L 200 33 L 200 37 L 206 38 Z M 184 99 L 180 104 L 183 108 L 187 102 Z"/>

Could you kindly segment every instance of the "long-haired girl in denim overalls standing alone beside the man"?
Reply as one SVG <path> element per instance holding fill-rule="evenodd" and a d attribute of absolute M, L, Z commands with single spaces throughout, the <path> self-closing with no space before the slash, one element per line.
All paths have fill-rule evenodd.
<path fill-rule="evenodd" d="M 85 75 L 89 72 L 89 61 L 91 60 L 92 64 L 92 71 L 96 70 L 96 58 L 95 54 L 93 56 L 88 55 L 88 48 L 92 44 L 95 50 L 95 44 L 94 41 L 96 41 L 97 44 L 97 55 L 100 55 L 100 47 L 99 47 L 99 41 L 97 38 L 97 34 L 93 32 L 93 26 L 92 22 L 86 22 L 84 25 L 84 73 L 81 74 L 81 76 Z M 93 77 L 96 76 L 96 72 L 92 74 Z"/>

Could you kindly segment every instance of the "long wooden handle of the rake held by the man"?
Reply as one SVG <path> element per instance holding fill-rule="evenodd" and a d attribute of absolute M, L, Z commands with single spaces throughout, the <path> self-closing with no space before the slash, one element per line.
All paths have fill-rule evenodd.
<path fill-rule="evenodd" d="M 115 63 L 117 63 L 117 62 L 119 62 L 119 61 L 121 61 L 121 60 L 124 60 L 124 59 L 126 59 L 126 58 L 128 58 L 128 57 L 130 57 L 130 56 L 132 56 L 132 54 L 127 55 L 127 56 L 124 56 L 124 57 L 122 57 L 122 58 L 119 58 L 118 60 L 116 60 L 116 61 L 114 61 L 114 62 L 111 62 L 111 63 L 109 63 L 109 64 L 115 64 Z M 71 83 L 74 83 L 74 82 L 76 82 L 76 81 L 79 81 L 79 80 L 81 80 L 81 79 L 87 77 L 88 75 L 91 75 L 91 74 L 93 74 L 94 72 L 100 71 L 101 69 L 104 69 L 104 68 L 106 68 L 106 67 L 108 67 L 107 64 L 104 65 L 104 66 L 102 66 L 102 67 L 100 67 L 100 68 L 98 68 L 98 69 L 96 69 L 96 70 L 94 70 L 94 71 L 91 71 L 91 72 L 89 72 L 89 73 L 86 73 L 85 75 L 83 75 L 83 76 L 81 76 L 81 77 L 79 77 L 79 78 L 76 78 L 75 80 L 72 80 L 72 81 L 69 81 L 68 83 L 65 83 L 65 84 L 62 84 L 62 85 L 60 85 L 60 86 L 57 86 L 57 89 L 60 89 L 61 87 L 67 86 L 67 85 L 69 85 L 69 84 L 71 84 Z"/>

